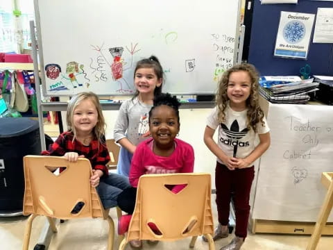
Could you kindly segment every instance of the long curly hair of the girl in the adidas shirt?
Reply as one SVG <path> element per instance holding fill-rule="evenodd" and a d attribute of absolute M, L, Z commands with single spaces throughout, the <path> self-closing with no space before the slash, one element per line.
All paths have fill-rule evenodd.
<path fill-rule="evenodd" d="M 230 74 L 233 72 L 247 72 L 250 76 L 251 86 L 250 86 L 250 96 L 246 99 L 246 107 L 248 108 L 247 118 L 248 118 L 248 128 L 253 128 L 253 131 L 257 132 L 258 122 L 262 123 L 264 126 L 264 112 L 259 106 L 259 74 L 257 69 L 253 65 L 248 63 L 241 63 L 239 65 L 234 65 L 227 71 L 223 73 L 221 80 L 219 81 L 219 87 L 216 92 L 216 106 L 218 108 L 218 120 L 219 122 L 225 121 L 225 108 L 228 106 L 229 98 L 227 94 L 228 83 Z"/>

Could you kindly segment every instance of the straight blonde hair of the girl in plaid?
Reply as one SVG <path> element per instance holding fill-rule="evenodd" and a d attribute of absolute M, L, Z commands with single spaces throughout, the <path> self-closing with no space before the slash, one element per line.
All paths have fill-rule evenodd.
<path fill-rule="evenodd" d="M 68 106 L 67 106 L 67 116 L 66 116 L 66 121 L 67 121 L 67 126 L 68 130 L 71 131 L 74 134 L 73 140 L 76 139 L 76 128 L 73 126 L 73 117 L 74 117 L 74 110 L 75 108 L 81 103 L 81 101 L 85 100 L 90 100 L 94 104 L 97 110 L 97 124 L 94 127 L 94 130 L 92 131 L 94 137 L 99 140 L 101 144 L 105 144 L 105 119 L 103 117 L 102 113 L 102 108 L 101 104 L 99 103 L 99 97 L 97 97 L 96 94 L 93 92 L 80 92 L 74 97 L 71 97 L 69 100 Z"/>

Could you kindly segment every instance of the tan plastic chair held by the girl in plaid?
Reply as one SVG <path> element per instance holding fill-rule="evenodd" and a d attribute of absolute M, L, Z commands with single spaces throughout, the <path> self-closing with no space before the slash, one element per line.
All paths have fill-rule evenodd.
<path fill-rule="evenodd" d="M 66 167 L 58 176 L 48 167 Z M 99 199 L 96 189 L 90 185 L 92 167 L 89 160 L 80 158 L 69 163 L 58 156 L 24 156 L 24 207 L 23 214 L 30 215 L 24 232 L 23 249 L 28 250 L 31 226 L 37 215 L 49 220 L 53 233 L 57 232 L 52 218 L 74 219 L 103 217 L 108 220 L 108 250 L 113 249 L 114 222 Z M 78 213 L 73 213 L 77 203 L 84 204 Z"/>

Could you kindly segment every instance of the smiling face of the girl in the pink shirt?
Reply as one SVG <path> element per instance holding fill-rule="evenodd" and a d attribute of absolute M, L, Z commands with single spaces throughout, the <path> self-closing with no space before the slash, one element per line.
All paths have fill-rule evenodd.
<path fill-rule="evenodd" d="M 178 117 L 173 108 L 162 105 L 153 109 L 150 117 L 149 131 L 160 149 L 173 147 L 173 140 L 179 132 Z"/>

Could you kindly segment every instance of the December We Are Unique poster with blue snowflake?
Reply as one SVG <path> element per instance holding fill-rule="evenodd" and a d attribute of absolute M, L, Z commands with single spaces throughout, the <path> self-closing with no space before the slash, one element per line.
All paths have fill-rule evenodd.
<path fill-rule="evenodd" d="M 307 58 L 314 14 L 281 12 L 274 56 Z"/>

